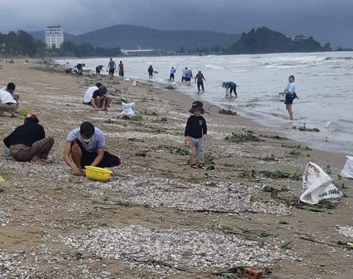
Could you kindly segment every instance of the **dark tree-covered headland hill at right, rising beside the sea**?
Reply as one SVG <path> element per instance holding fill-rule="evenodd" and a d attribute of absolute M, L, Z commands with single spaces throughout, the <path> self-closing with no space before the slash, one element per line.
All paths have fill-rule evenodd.
<path fill-rule="evenodd" d="M 263 54 L 280 52 L 315 52 L 330 51 L 330 44 L 321 46 L 312 37 L 293 41 L 291 38 L 268 29 L 260 27 L 243 33 L 240 39 L 225 50 L 224 54 Z"/>

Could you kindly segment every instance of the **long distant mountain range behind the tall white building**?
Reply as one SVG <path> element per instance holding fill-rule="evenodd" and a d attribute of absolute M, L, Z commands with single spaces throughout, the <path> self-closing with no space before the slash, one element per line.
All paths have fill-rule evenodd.
<path fill-rule="evenodd" d="M 29 32 L 34 38 L 44 41 L 44 30 Z M 135 25 L 115 25 L 96 31 L 74 36 L 64 33 L 64 40 L 76 44 L 90 43 L 94 46 L 105 48 L 120 46 L 125 50 L 137 49 L 164 49 L 177 51 L 180 46 L 185 50 L 196 46 L 213 47 L 220 45 L 228 48 L 238 40 L 240 36 L 211 31 L 163 31 Z"/>

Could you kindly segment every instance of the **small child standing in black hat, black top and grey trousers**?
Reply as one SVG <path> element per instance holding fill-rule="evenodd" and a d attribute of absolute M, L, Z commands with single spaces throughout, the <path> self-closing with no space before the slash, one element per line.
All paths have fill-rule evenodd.
<path fill-rule="evenodd" d="M 186 122 L 185 143 L 189 142 L 191 167 L 205 169 L 204 141 L 206 141 L 207 126 L 205 118 L 201 116 L 205 113 L 203 104 L 200 101 L 193 102 L 189 112 L 193 115 Z M 199 165 L 196 164 L 196 155 Z"/>

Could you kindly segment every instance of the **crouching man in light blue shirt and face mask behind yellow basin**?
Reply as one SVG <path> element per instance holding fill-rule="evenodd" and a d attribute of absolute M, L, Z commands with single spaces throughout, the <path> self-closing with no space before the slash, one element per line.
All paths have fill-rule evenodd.
<path fill-rule="evenodd" d="M 64 161 L 74 175 L 82 175 L 85 166 L 109 168 L 121 165 L 120 157 L 104 151 L 104 147 L 103 132 L 93 124 L 83 122 L 66 138 Z"/>

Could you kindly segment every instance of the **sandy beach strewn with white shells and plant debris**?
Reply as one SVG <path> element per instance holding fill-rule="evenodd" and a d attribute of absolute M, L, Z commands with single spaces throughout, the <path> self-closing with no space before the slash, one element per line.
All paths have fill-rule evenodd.
<path fill-rule="evenodd" d="M 203 102 L 208 168 L 191 169 L 183 140 L 194 99 L 29 61 L 0 62 L 0 85 L 16 83 L 19 109 L 36 112 L 55 144 L 44 166 L 1 153 L 0 279 L 241 278 L 239 267 L 261 268 L 263 278 L 352 278 L 352 252 L 337 246 L 353 238 L 352 181 L 338 176 L 345 154 L 311 150 Z M 113 98 L 107 112 L 82 103 L 96 82 Z M 121 102 L 136 103 L 137 117 L 122 118 Z M 1 141 L 23 120 L 0 118 Z M 121 157 L 107 182 L 73 176 L 62 159 L 83 121 Z M 344 184 L 348 197 L 335 209 L 295 207 L 307 162 Z"/>

